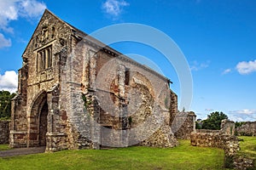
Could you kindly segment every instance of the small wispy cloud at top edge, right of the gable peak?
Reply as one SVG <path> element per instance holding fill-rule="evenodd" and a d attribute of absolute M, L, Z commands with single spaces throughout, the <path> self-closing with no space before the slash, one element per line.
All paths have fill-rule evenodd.
<path fill-rule="evenodd" d="M 118 17 L 122 13 L 123 8 L 129 6 L 130 4 L 124 0 L 107 0 L 102 4 L 104 12 L 112 15 L 113 17 Z"/>

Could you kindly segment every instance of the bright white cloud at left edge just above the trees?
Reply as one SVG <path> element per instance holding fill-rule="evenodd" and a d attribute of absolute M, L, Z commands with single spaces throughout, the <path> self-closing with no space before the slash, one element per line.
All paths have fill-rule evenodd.
<path fill-rule="evenodd" d="M 0 74 L 0 90 L 15 92 L 18 88 L 18 74 L 15 71 L 5 71 Z"/>

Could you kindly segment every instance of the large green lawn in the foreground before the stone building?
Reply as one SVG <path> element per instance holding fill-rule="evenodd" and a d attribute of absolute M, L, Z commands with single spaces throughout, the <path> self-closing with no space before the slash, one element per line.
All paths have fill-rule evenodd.
<path fill-rule="evenodd" d="M 0 158 L 0 169 L 222 169 L 224 150 L 190 146 L 171 149 L 129 147 L 113 150 L 64 150 Z"/>

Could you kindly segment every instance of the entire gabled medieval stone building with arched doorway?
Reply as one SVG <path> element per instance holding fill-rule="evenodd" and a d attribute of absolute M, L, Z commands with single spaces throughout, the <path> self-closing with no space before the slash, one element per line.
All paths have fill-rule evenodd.
<path fill-rule="evenodd" d="M 45 10 L 24 54 L 10 147 L 177 145 L 170 80 Z"/>

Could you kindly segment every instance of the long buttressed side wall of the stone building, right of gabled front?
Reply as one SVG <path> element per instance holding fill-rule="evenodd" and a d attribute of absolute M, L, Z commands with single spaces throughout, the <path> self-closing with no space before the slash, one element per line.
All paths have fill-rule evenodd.
<path fill-rule="evenodd" d="M 177 111 L 177 95 L 170 90 L 166 77 L 89 41 L 86 37 L 73 45 L 73 58 L 67 65 L 75 69 L 61 76 L 64 82 L 63 77 L 73 75 L 67 80 L 72 82 L 68 86 L 73 87 L 62 83 L 62 90 L 70 91 L 61 94 L 73 101 L 67 102 L 67 116 L 81 137 L 76 138 L 93 141 L 88 144 L 81 140 L 81 145 L 95 149 L 134 144 L 176 145 L 170 119 L 172 111 Z"/>

